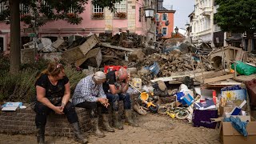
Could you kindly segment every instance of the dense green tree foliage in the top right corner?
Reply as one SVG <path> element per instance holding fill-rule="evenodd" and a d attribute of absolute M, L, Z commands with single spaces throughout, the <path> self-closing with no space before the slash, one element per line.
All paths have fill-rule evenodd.
<path fill-rule="evenodd" d="M 216 0 L 214 20 L 223 31 L 253 34 L 256 26 L 256 0 Z"/>

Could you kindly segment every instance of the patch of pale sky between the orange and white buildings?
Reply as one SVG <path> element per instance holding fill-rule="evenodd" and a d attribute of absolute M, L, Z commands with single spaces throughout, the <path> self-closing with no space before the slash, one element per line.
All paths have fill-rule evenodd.
<path fill-rule="evenodd" d="M 166 9 L 170 9 L 173 5 L 173 10 L 176 10 L 174 14 L 174 27 L 186 28 L 186 22 L 189 22 L 189 14 L 194 10 L 194 0 L 164 0 L 163 6 Z"/>

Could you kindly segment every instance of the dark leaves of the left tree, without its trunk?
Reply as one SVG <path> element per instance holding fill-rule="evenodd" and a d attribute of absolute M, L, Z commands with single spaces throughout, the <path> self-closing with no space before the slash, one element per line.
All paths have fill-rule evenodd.
<path fill-rule="evenodd" d="M 10 7 L 8 6 L 9 0 L 0 0 L 0 2 L 6 2 L 6 10 L 2 10 L 0 13 L 0 21 L 7 20 L 10 22 Z M 94 5 L 101 7 L 108 7 L 111 11 L 114 11 L 114 3 L 122 0 L 93 0 Z M 31 20 L 34 20 L 35 14 L 37 14 L 38 26 L 42 26 L 47 20 L 59 20 L 65 19 L 70 24 L 79 24 L 82 22 L 82 14 L 86 7 L 84 6 L 88 0 L 21 0 L 22 6 L 28 8 L 20 10 L 21 21 L 33 26 Z M 26 10 L 30 10 L 31 13 L 26 14 Z"/>

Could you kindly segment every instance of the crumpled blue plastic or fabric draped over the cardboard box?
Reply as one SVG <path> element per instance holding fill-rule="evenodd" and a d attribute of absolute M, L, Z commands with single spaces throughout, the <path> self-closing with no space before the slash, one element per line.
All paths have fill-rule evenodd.
<path fill-rule="evenodd" d="M 234 118 L 231 116 L 230 118 L 224 118 L 224 122 L 231 122 L 232 126 L 234 127 L 235 130 L 238 130 L 240 134 L 243 136 L 247 137 L 248 133 L 246 130 L 246 126 L 248 122 L 242 122 L 239 117 Z"/>

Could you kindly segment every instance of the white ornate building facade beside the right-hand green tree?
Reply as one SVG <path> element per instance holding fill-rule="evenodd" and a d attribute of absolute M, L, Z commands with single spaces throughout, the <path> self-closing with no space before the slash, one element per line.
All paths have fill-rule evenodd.
<path fill-rule="evenodd" d="M 189 15 L 187 25 L 189 42 L 206 42 L 213 47 L 242 47 L 242 34 L 223 32 L 214 22 L 214 14 L 218 13 L 218 5 L 214 0 L 195 0 L 194 11 Z"/>

